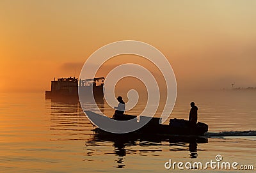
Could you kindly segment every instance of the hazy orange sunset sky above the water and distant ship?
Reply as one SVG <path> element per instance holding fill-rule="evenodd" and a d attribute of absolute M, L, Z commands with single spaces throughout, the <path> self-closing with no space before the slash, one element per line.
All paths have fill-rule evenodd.
<path fill-rule="evenodd" d="M 163 52 L 178 89 L 255 87 L 255 9 L 256 1 L 242 0 L 1 0 L 0 91 L 50 89 L 54 77 L 78 77 L 90 54 L 119 40 Z M 106 67 L 126 61 L 115 57 Z"/>

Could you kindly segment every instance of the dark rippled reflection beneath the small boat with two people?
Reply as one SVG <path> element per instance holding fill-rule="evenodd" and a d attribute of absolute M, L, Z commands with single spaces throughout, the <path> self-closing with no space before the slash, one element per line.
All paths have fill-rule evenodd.
<path fill-rule="evenodd" d="M 93 142 L 92 142 L 93 141 Z M 96 130 L 95 134 L 92 136 L 92 139 L 88 142 L 89 144 L 99 145 L 95 142 L 114 142 L 115 154 L 119 157 L 125 156 L 127 149 L 125 147 L 129 146 L 150 146 L 150 150 L 146 149 L 148 152 L 159 152 L 162 149 L 159 149 L 157 146 L 166 145 L 172 146 L 169 151 L 177 151 L 175 146 L 181 147 L 179 150 L 183 149 L 184 151 L 190 152 L 191 158 L 197 158 L 197 147 L 200 143 L 208 143 L 208 139 L 204 137 L 188 136 L 188 135 L 152 135 L 149 133 L 141 135 L 140 133 L 125 133 L 125 134 L 116 134 L 116 133 L 106 133 L 104 131 Z M 189 144 L 189 145 L 188 145 Z M 154 149 L 156 147 L 157 149 Z M 135 148 L 135 147 L 132 147 Z M 153 148 L 153 149 L 152 149 Z M 140 150 L 141 151 L 141 150 Z M 132 154 L 129 152 L 129 154 Z M 125 164 L 122 161 L 122 158 L 119 158 L 118 167 L 124 167 Z"/>

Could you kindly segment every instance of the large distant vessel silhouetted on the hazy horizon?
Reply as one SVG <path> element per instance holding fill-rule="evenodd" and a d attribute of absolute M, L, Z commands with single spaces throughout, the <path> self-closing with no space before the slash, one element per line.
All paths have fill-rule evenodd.
<path fill-rule="evenodd" d="M 95 98 L 103 98 L 104 77 L 94 79 L 79 80 L 75 77 L 59 78 L 51 82 L 51 91 L 45 91 L 45 98 L 78 98 L 79 92 L 83 94 L 90 93 L 93 87 L 93 96 Z"/>

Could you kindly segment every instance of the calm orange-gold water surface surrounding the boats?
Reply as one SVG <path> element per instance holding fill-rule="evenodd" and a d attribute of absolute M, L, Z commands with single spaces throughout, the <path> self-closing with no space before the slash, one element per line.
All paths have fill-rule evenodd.
<path fill-rule="evenodd" d="M 199 121 L 209 124 L 204 137 L 116 137 L 93 132 L 76 101 L 45 100 L 44 93 L 2 93 L 0 172 L 233 172 L 164 169 L 169 159 L 205 163 L 215 161 L 217 154 L 223 162 L 254 166 L 235 172 L 253 172 L 255 98 L 255 91 L 179 93 L 171 117 L 187 119 L 189 103 L 195 102 Z M 138 114 L 143 106 L 128 113 Z M 106 103 L 99 107 L 113 114 Z"/>

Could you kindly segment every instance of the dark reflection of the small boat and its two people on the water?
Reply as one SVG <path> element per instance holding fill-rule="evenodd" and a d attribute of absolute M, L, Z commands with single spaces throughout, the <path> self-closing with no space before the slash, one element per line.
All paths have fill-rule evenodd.
<path fill-rule="evenodd" d="M 166 145 L 168 145 L 167 152 L 189 151 L 190 158 L 197 158 L 198 144 L 208 143 L 208 139 L 204 137 L 177 135 L 142 135 L 138 133 L 120 135 L 106 132 L 95 132 L 92 135 L 92 138 L 86 142 L 86 146 L 99 146 L 101 142 L 113 142 L 113 152 L 118 156 L 116 160 L 116 167 L 124 168 L 124 156 L 127 154 L 155 153 L 154 155 L 156 156 L 157 152 L 166 152 L 166 150 L 163 150 L 163 147 Z M 131 147 L 132 149 L 130 149 Z M 141 147 L 143 147 L 143 149 L 141 149 Z"/>

